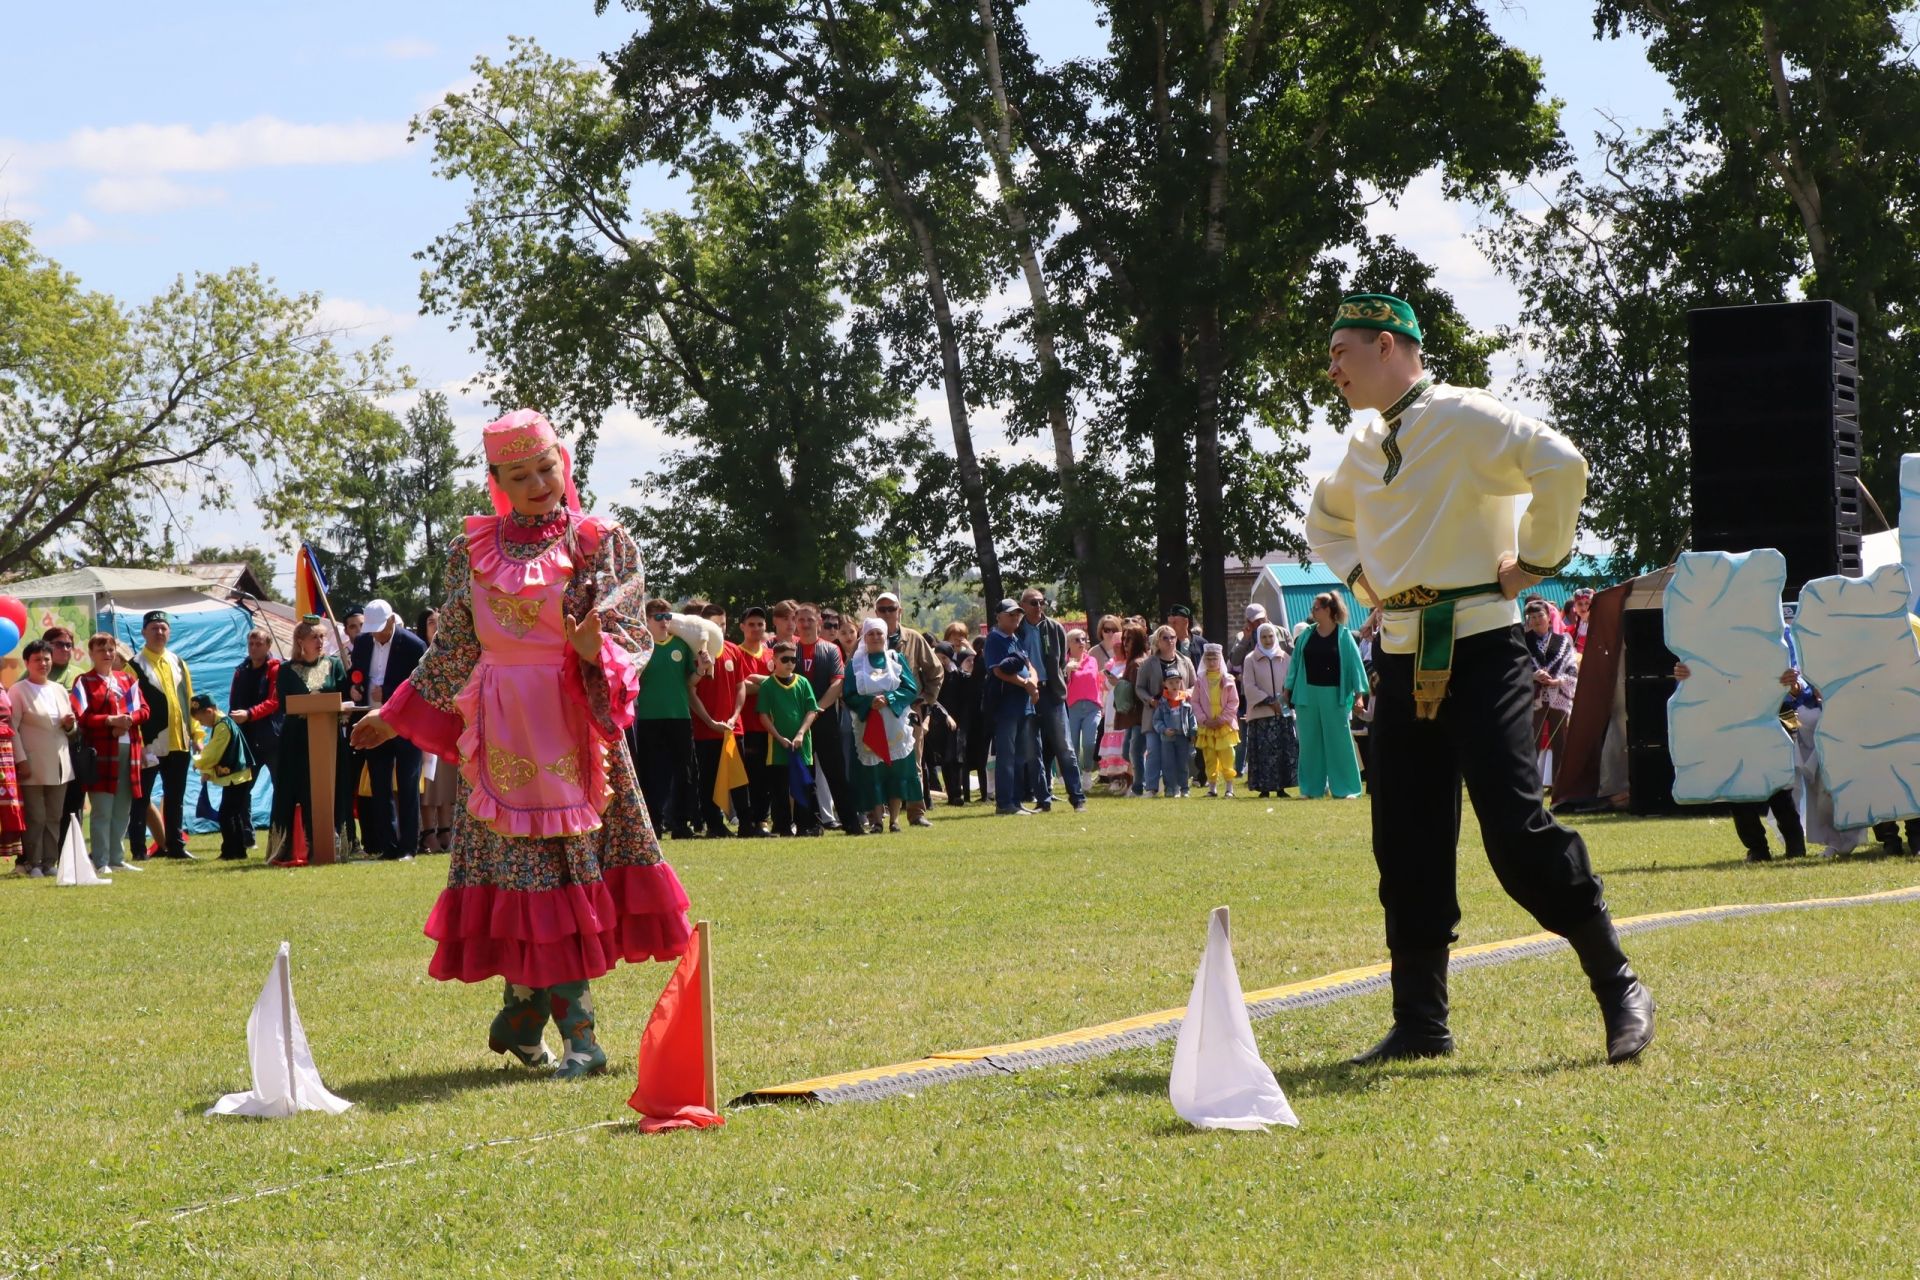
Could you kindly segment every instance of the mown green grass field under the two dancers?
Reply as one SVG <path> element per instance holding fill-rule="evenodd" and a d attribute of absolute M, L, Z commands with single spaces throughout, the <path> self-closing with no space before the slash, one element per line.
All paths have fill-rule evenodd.
<path fill-rule="evenodd" d="M 1363 802 L 937 818 L 670 846 L 714 921 L 722 1096 L 1179 1006 L 1215 904 L 1248 988 L 1382 952 Z M 1910 860 L 1749 867 L 1726 821 L 1580 825 L 1619 915 L 1920 883 Z M 1476 841 L 1463 940 L 1530 933 Z M 150 865 L 0 881 L 0 1276 L 1920 1272 L 1910 904 L 1630 938 L 1661 1025 L 1622 1069 L 1571 956 L 1455 977 L 1446 1063 L 1336 1065 L 1384 996 L 1260 1021 L 1298 1130 L 1181 1125 L 1169 1042 L 641 1138 L 586 1126 L 632 1119 L 664 965 L 595 984 L 612 1071 L 559 1084 L 486 1052 L 497 986 L 426 977 L 442 862 Z M 202 1119 L 248 1084 L 282 938 L 357 1105 Z"/>

